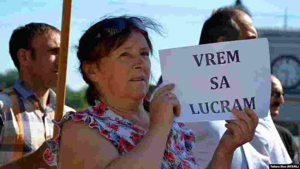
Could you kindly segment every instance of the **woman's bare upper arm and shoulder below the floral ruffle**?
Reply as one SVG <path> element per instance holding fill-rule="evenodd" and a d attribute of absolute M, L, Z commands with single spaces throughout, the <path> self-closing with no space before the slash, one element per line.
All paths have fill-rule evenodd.
<path fill-rule="evenodd" d="M 119 156 L 98 128 L 90 128 L 82 121 L 66 120 L 60 141 L 61 168 L 104 168 Z"/>

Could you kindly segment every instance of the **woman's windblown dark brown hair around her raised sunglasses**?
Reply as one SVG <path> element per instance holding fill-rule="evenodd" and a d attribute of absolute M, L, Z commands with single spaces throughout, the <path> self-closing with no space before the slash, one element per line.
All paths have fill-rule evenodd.
<path fill-rule="evenodd" d="M 95 99 L 99 99 L 98 91 L 92 81 L 88 78 L 88 76 L 83 71 L 83 63 L 84 62 L 97 62 L 100 58 L 107 56 L 112 50 L 120 47 L 125 43 L 128 36 L 132 32 L 133 29 L 137 29 L 128 25 L 124 30 L 113 35 L 111 37 L 99 37 L 96 38 L 101 30 L 103 30 L 103 24 L 109 20 L 113 20 L 116 18 L 124 18 L 128 19 L 131 16 L 120 16 L 120 17 L 106 17 L 98 23 L 92 25 L 88 30 L 84 32 L 82 37 L 79 39 L 79 44 L 77 46 L 77 58 L 79 59 L 80 66 L 79 71 L 82 74 L 83 80 L 88 84 L 88 89 L 85 93 L 85 99 L 88 104 L 93 106 L 95 105 Z M 136 16 L 134 16 L 136 17 Z M 155 21 L 147 18 L 147 17 L 138 17 L 142 20 L 143 25 L 160 35 L 163 34 L 162 26 L 156 23 Z M 146 38 L 147 44 L 149 46 L 150 55 L 153 54 L 152 43 L 149 39 L 148 32 L 144 32 L 143 30 L 138 29 Z"/>

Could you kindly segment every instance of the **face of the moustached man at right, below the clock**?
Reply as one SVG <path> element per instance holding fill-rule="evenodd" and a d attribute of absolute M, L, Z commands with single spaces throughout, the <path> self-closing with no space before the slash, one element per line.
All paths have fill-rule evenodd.
<path fill-rule="evenodd" d="M 280 104 L 284 103 L 283 88 L 280 81 L 277 78 L 272 78 L 272 92 L 270 100 L 270 112 L 271 117 L 279 116 Z"/>

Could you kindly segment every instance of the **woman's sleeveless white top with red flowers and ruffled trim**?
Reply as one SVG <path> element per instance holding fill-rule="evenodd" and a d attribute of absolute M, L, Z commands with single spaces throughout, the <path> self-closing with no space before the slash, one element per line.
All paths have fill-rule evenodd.
<path fill-rule="evenodd" d="M 67 112 L 61 121 L 53 122 L 59 128 L 58 137 L 47 141 L 47 149 L 44 152 L 44 160 L 51 166 L 58 164 L 58 150 L 61 136 L 61 126 L 67 119 L 83 121 L 90 128 L 97 128 L 103 137 L 111 141 L 119 154 L 130 152 L 140 142 L 146 131 L 134 125 L 127 119 L 113 113 L 105 104 L 98 102 L 97 106 L 89 107 L 86 110 Z M 162 158 L 162 169 L 201 169 L 195 159 L 190 155 L 193 146 L 196 145 L 196 136 L 190 129 L 184 127 L 183 123 L 174 120 L 170 130 L 166 149 Z"/>

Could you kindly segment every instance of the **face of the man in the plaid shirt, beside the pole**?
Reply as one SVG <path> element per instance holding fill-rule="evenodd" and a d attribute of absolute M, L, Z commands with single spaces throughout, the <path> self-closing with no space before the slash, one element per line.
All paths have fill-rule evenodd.
<path fill-rule="evenodd" d="M 60 33 L 50 30 L 43 35 L 37 35 L 33 38 L 32 47 L 35 59 L 28 73 L 32 74 L 34 83 L 41 84 L 41 88 L 55 87 L 58 75 Z"/>

